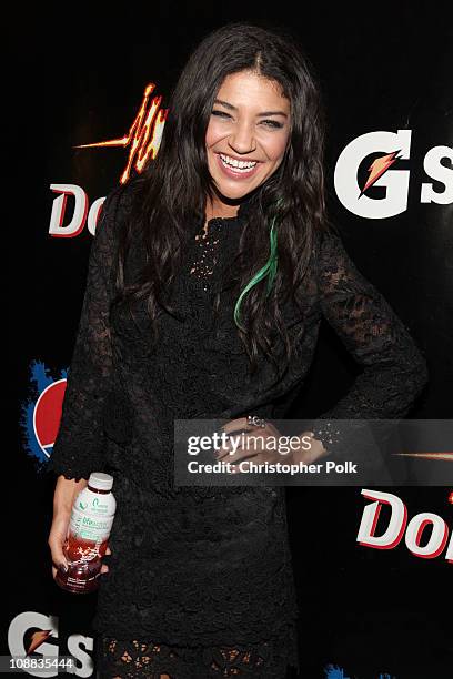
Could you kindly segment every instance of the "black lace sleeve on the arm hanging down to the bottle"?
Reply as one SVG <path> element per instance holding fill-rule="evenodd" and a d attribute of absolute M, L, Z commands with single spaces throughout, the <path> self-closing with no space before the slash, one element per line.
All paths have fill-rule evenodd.
<path fill-rule="evenodd" d="M 67 478 L 89 478 L 91 472 L 103 468 L 102 418 L 112 372 L 109 303 L 118 193 L 119 190 L 114 190 L 107 197 L 91 243 L 60 428 L 48 465 L 50 472 Z"/>

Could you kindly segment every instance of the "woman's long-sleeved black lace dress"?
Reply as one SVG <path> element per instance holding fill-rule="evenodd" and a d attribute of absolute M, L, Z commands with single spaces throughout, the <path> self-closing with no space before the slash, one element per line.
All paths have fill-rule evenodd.
<path fill-rule="evenodd" d="M 310 368 L 324 315 L 363 366 L 353 387 L 321 417 L 393 418 L 409 411 L 426 366 L 402 322 L 359 273 L 340 237 L 319 237 L 302 312 L 284 317 L 298 347 L 289 374 L 262 362 L 250 377 L 224 294 L 246 204 L 204 234 L 188 224 L 185 265 L 173 302 L 183 320 L 160 316 L 151 351 L 144 307 L 112 314 L 113 255 L 130 209 L 128 191 L 105 201 L 50 469 L 67 478 L 114 476 L 118 509 L 110 570 L 101 576 L 93 628 L 101 677 L 285 677 L 298 666 L 298 605 L 283 487 L 175 487 L 173 419 L 284 417 Z M 132 249 L 127 277 L 139 266 Z M 107 559 L 105 559 L 107 561 Z"/>

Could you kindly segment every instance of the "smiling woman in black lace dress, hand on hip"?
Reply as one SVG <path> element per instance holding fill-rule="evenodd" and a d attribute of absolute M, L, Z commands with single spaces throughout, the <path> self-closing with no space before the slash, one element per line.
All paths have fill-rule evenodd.
<path fill-rule="evenodd" d="M 224 27 L 190 57 L 170 110 L 155 162 L 108 196 L 97 229 L 49 545 L 58 567 L 74 479 L 109 472 L 99 676 L 284 679 L 299 615 L 284 488 L 175 486 L 174 419 L 279 438 L 269 419 L 301 388 L 322 315 L 363 373 L 321 417 L 402 417 L 426 368 L 329 230 L 320 94 L 299 45 Z M 325 453 L 300 440 L 296 462 Z M 264 443 L 253 463 L 275 456 Z"/>

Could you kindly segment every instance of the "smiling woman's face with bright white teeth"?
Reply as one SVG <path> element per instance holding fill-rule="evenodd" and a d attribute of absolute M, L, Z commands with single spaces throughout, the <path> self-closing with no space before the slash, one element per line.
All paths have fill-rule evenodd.
<path fill-rule="evenodd" d="M 221 195 L 239 200 L 275 172 L 290 139 L 290 108 L 273 80 L 253 71 L 225 78 L 205 138 L 209 171 Z"/>

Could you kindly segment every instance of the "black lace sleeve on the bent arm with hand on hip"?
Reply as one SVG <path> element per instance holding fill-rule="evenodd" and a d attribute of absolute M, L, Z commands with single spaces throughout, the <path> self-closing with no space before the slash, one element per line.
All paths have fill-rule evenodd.
<path fill-rule="evenodd" d="M 426 363 L 385 298 L 350 260 L 341 237 L 323 235 L 318 259 L 323 316 L 363 367 L 321 419 L 392 419 L 410 411 L 427 382 Z"/>

